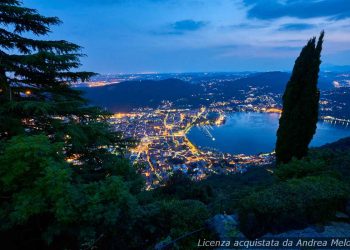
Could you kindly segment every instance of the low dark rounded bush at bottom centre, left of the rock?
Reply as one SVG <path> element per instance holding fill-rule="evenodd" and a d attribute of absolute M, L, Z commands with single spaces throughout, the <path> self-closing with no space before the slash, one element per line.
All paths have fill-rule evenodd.
<path fill-rule="evenodd" d="M 192 231 L 203 229 L 209 216 L 206 206 L 199 201 L 160 200 L 142 207 L 135 230 L 140 231 L 142 238 L 139 241 L 144 242 L 143 248 L 146 248 L 156 242 L 175 240 Z M 207 232 L 202 231 L 176 242 L 175 249 L 179 246 L 181 249 L 194 248 L 198 237 L 208 236 L 205 233 Z"/>

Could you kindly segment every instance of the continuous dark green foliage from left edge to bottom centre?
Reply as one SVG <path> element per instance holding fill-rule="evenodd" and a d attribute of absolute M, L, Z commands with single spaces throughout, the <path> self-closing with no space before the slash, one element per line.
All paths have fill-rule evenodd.
<path fill-rule="evenodd" d="M 0 165 L 0 239 L 19 248 L 151 248 L 204 228 L 209 218 L 194 200 L 158 197 L 139 206 L 133 194 L 142 182 L 117 157 L 108 175 L 86 182 L 45 135 L 13 137 L 2 145 Z M 190 248 L 200 235 L 176 246 Z"/>

